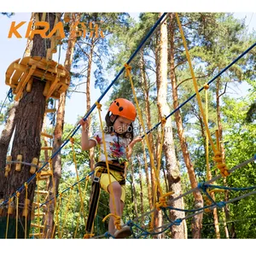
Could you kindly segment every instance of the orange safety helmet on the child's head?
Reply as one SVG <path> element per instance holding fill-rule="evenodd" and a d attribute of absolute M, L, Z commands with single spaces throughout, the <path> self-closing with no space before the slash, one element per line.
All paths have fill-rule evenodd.
<path fill-rule="evenodd" d="M 130 101 L 123 98 L 114 100 L 108 108 L 108 111 L 132 121 L 136 119 L 137 115 L 134 105 Z"/>

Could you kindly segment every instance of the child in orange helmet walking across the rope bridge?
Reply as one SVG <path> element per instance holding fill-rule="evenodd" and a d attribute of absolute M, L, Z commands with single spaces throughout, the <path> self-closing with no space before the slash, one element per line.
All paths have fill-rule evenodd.
<path fill-rule="evenodd" d="M 106 127 L 104 129 L 106 148 L 108 152 L 108 166 L 110 169 L 111 186 L 109 183 L 106 158 L 104 154 L 104 145 L 102 143 L 102 132 L 96 132 L 93 137 L 88 137 L 88 123 L 81 119 L 82 125 L 81 144 L 82 150 L 89 150 L 100 144 L 101 160 L 96 163 L 95 175 L 100 177 L 100 186 L 109 193 L 109 208 L 111 213 L 116 213 L 120 218 L 125 205 L 125 162 L 131 157 L 131 150 L 135 143 L 142 141 L 141 137 L 133 139 L 132 122 L 136 119 L 137 113 L 134 105 L 124 99 L 119 98 L 111 103 L 108 113 L 105 117 Z M 98 172 L 98 173 L 97 173 Z M 114 212 L 113 198 L 116 212 Z M 124 226 L 117 230 L 111 217 L 108 223 L 108 233 L 115 238 L 124 238 L 131 236 L 129 227 Z M 121 222 L 121 225 L 123 223 Z"/>

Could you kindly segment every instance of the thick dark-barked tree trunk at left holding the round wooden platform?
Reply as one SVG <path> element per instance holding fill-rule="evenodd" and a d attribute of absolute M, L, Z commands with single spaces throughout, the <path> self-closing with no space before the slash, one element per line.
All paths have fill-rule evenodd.
<path fill-rule="evenodd" d="M 47 17 L 49 21 L 49 29 L 51 30 L 55 22 L 55 14 L 49 13 Z M 45 45 L 46 44 L 46 45 Z M 46 46 L 46 47 L 45 47 Z M 32 45 L 32 56 L 46 57 L 46 48 L 49 47 L 49 40 L 45 42 L 44 38 L 40 35 L 35 35 Z M 18 113 L 16 119 L 15 138 L 12 147 L 12 160 L 17 159 L 17 155 L 22 155 L 22 161 L 31 163 L 33 158 L 39 158 L 41 150 L 41 130 L 44 119 L 45 109 L 45 97 L 43 94 L 45 82 L 38 79 L 32 81 L 32 91 L 26 92 L 24 90 L 23 96 L 20 99 Z M 4 158 L 2 156 L 0 158 Z M 7 177 L 6 189 L 4 191 L 4 198 L 9 198 L 13 195 L 17 189 L 21 187 L 31 176 L 29 172 L 30 166 L 21 165 L 20 172 L 15 171 L 15 164 L 11 166 L 9 177 Z M 33 179 L 28 186 L 28 199 L 30 200 L 30 207 L 32 206 L 34 190 L 36 186 L 36 180 Z M 16 200 L 14 200 L 16 201 Z M 25 203 L 25 191 L 24 189 L 20 193 L 19 197 L 19 225 L 18 225 L 18 238 L 25 237 L 25 231 L 23 229 L 25 225 L 25 217 L 22 216 L 22 210 Z M 9 215 L 9 238 L 15 238 L 15 211 Z M 30 228 L 31 222 L 31 210 L 27 214 L 27 230 Z M 3 216 L 0 219 L 1 226 L 7 224 L 7 210 L 3 209 Z M 5 236 L 5 229 L 1 229 L 0 237 Z"/>

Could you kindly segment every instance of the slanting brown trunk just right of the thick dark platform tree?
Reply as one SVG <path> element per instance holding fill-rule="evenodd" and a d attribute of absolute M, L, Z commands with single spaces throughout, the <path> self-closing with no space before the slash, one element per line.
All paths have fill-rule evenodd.
<path fill-rule="evenodd" d="M 80 20 L 80 15 L 73 14 L 71 25 L 70 25 L 70 35 L 67 42 L 67 52 L 66 52 L 66 59 L 64 67 L 67 69 L 67 72 L 70 72 L 71 65 L 73 61 L 73 51 L 76 43 L 76 33 L 75 31 L 75 22 Z M 58 111 L 56 115 L 56 124 L 55 124 L 55 131 L 54 131 L 54 143 L 53 143 L 53 152 L 56 152 L 58 148 L 61 148 L 62 144 L 62 135 L 63 135 L 63 128 L 64 128 L 64 119 L 65 119 L 65 105 L 66 105 L 66 96 L 67 91 L 61 93 Z M 61 152 L 55 155 L 52 160 L 53 169 L 54 169 L 54 183 L 55 188 L 53 189 L 53 183 L 50 178 L 49 182 L 49 198 L 53 198 L 55 195 L 58 194 L 59 183 L 61 179 Z M 49 205 L 49 215 L 47 219 L 46 226 L 49 227 L 49 231 L 45 229 L 44 237 L 47 238 L 53 237 L 52 233 L 54 231 L 54 212 L 55 212 L 55 201 L 50 201 Z"/>

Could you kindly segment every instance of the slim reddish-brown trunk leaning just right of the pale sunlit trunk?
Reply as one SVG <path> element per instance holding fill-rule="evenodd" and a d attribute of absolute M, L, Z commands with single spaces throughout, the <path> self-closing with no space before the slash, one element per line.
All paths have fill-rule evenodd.
<path fill-rule="evenodd" d="M 172 14 L 170 17 L 170 25 L 169 25 L 169 31 L 171 32 L 171 48 L 170 48 L 170 62 L 171 62 L 171 81 L 172 81 L 172 98 L 173 98 L 173 108 L 176 109 L 179 105 L 178 103 L 178 97 L 177 97 L 177 83 L 176 83 L 176 74 L 175 74 L 175 67 L 174 67 L 174 29 L 175 29 L 175 15 Z M 195 189 L 197 187 L 197 181 L 195 177 L 195 170 L 194 166 L 190 160 L 189 156 L 189 148 L 186 142 L 186 138 L 184 136 L 184 130 L 183 130 L 183 122 L 182 117 L 180 114 L 180 111 L 177 110 L 175 113 L 175 121 L 177 125 L 177 134 L 179 138 L 179 142 L 181 145 L 181 149 L 183 152 L 183 160 L 187 167 L 188 173 L 189 173 L 189 180 L 191 183 L 192 189 Z M 201 208 L 203 207 L 203 200 L 200 191 L 195 191 L 193 193 L 194 199 L 195 199 L 195 208 Z M 192 218 L 192 237 L 193 238 L 201 238 L 201 225 L 202 225 L 202 217 L 203 214 L 197 214 Z"/>

